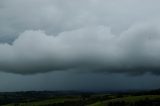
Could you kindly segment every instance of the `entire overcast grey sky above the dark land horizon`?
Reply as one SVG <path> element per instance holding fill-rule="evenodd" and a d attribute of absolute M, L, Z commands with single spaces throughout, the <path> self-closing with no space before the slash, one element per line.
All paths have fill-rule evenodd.
<path fill-rule="evenodd" d="M 159 4 L 0 0 L 0 90 L 159 88 Z"/>

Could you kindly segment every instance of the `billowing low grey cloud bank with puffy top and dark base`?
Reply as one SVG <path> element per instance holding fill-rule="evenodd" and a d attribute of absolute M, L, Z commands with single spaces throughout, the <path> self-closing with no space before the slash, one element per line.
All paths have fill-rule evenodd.
<path fill-rule="evenodd" d="M 57 36 L 25 31 L 0 45 L 1 70 L 38 73 L 54 70 L 158 73 L 160 30 L 140 24 L 115 35 L 106 26 L 85 27 Z"/>

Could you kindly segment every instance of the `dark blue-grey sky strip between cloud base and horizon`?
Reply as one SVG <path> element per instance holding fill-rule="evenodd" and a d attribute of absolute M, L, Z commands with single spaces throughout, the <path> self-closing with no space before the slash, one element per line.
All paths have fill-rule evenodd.
<path fill-rule="evenodd" d="M 124 74 L 75 73 L 54 71 L 37 75 L 0 73 L 0 91 L 22 90 L 83 90 L 112 91 L 134 89 L 157 89 L 160 77 L 145 74 L 126 76 Z"/>

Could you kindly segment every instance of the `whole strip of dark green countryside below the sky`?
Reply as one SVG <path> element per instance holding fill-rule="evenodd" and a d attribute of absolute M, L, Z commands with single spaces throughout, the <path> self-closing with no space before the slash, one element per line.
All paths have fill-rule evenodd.
<path fill-rule="evenodd" d="M 0 106 L 160 106 L 160 92 L 0 93 Z"/>

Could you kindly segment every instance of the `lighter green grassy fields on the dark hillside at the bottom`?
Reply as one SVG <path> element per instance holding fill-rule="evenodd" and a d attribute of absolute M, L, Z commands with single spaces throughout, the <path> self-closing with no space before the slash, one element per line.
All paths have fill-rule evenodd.
<path fill-rule="evenodd" d="M 105 97 L 107 96 L 108 98 L 103 98 L 101 99 L 101 97 Z M 95 99 L 96 98 L 96 99 Z M 86 102 L 87 100 L 92 100 L 90 102 Z M 52 99 L 46 99 L 46 100 L 39 100 L 39 101 L 26 101 L 26 102 L 22 102 L 22 103 L 10 103 L 7 105 L 3 105 L 3 106 L 45 106 L 45 105 L 50 105 L 52 106 L 53 104 L 56 103 L 92 103 L 90 105 L 87 106 L 108 106 L 109 103 L 116 103 L 116 102 L 122 102 L 124 101 L 127 104 L 132 104 L 135 102 L 138 102 L 140 100 L 160 100 L 160 95 L 140 95 L 140 96 L 134 96 L 134 95 L 122 95 L 122 96 L 118 96 L 118 95 L 112 95 L 112 94 L 98 94 L 98 95 L 92 95 L 90 97 L 87 98 L 82 98 L 81 96 L 60 96 L 60 97 L 56 97 L 56 98 L 52 98 Z"/>

